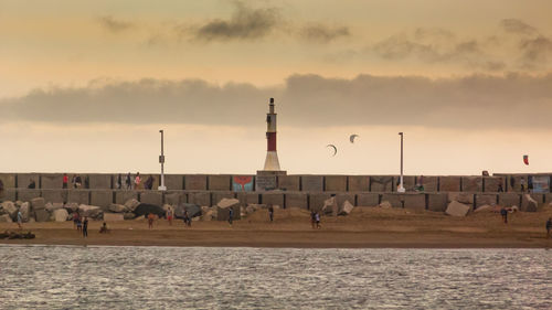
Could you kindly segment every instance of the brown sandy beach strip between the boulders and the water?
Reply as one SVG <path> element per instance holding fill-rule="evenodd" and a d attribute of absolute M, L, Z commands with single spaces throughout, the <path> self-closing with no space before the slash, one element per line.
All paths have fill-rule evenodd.
<path fill-rule="evenodd" d="M 339 248 L 543 248 L 552 246 L 545 237 L 545 221 L 552 209 L 537 213 L 510 214 L 503 224 L 497 213 L 467 217 L 397 209 L 355 207 L 348 216 L 323 216 L 321 228 L 312 229 L 308 211 L 276 210 L 268 222 L 266 210 L 246 218 L 227 222 L 159 220 L 148 229 L 146 220 L 108 223 L 109 234 L 99 234 L 102 222 L 91 222 L 83 238 L 65 223 L 25 223 L 34 239 L 1 239 L 1 244 L 112 245 L 112 246 L 250 246 L 250 247 L 339 247 Z M 0 223 L 0 231 L 17 231 L 15 223 Z"/>

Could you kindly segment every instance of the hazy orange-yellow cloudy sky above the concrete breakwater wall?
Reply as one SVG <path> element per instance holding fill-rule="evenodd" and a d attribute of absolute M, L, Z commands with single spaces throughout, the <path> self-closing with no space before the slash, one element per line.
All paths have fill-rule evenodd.
<path fill-rule="evenodd" d="M 0 172 L 157 172 L 163 129 L 168 173 L 255 173 L 270 97 L 290 174 L 397 174 L 400 131 L 405 174 L 551 172 L 550 12 L 0 0 Z"/>

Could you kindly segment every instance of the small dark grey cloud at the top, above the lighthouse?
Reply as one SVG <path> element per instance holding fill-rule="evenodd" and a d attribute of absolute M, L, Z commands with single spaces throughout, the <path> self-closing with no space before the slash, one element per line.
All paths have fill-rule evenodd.
<path fill-rule="evenodd" d="M 192 28 L 195 39 L 202 41 L 256 40 L 268 35 L 279 21 L 276 8 L 253 9 L 234 1 L 234 13 L 229 20 L 216 19 Z M 184 32 L 188 26 L 180 28 Z"/>

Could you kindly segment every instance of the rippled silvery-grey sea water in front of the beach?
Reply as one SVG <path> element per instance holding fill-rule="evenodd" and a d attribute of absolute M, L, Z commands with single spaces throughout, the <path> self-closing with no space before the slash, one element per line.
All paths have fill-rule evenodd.
<path fill-rule="evenodd" d="M 552 309 L 552 250 L 2 245 L 0 309 Z"/>

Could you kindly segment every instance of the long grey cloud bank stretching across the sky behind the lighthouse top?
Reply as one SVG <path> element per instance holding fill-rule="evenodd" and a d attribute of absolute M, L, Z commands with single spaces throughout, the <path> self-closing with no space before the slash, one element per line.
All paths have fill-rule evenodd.
<path fill-rule="evenodd" d="M 422 126 L 552 129 L 552 74 L 418 76 L 293 75 L 284 86 L 201 79 L 107 82 L 0 100 L 2 121 L 259 126 L 276 98 L 284 126 Z"/>

